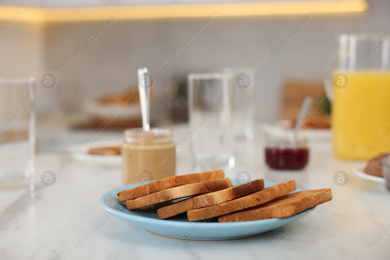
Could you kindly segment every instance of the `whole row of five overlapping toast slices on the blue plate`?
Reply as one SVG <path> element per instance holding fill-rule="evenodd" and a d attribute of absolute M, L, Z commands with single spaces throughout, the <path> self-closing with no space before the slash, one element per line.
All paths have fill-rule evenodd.
<path fill-rule="evenodd" d="M 286 218 L 332 200 L 331 189 L 296 190 L 295 180 L 264 188 L 257 179 L 236 186 L 222 169 L 168 177 L 119 191 L 128 210 L 186 198 L 157 210 L 160 219 L 187 212 L 189 221 L 218 216 L 219 222 Z"/>

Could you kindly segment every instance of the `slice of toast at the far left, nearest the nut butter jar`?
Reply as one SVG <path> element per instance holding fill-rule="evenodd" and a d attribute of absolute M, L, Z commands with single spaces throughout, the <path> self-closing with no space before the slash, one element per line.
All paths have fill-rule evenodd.
<path fill-rule="evenodd" d="M 186 184 L 204 182 L 206 180 L 216 180 L 225 177 L 223 169 L 214 170 L 210 172 L 191 173 L 185 175 L 177 175 L 167 177 L 161 180 L 155 180 L 154 182 L 135 187 L 133 189 L 126 189 L 117 193 L 118 202 L 124 202 L 126 200 L 132 200 L 142 196 L 146 196 L 163 189 L 169 189 L 174 187 L 183 186 Z"/>

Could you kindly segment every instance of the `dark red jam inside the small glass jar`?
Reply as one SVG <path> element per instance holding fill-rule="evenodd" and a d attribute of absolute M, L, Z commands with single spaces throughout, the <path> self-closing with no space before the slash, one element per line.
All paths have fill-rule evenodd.
<path fill-rule="evenodd" d="M 279 148 L 266 147 L 266 163 L 277 170 L 300 170 L 306 166 L 309 151 L 305 147 Z"/>

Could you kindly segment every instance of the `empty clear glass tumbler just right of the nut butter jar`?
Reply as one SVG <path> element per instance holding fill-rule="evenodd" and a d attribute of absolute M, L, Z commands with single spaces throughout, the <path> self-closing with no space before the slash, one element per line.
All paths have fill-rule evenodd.
<path fill-rule="evenodd" d="M 190 132 L 178 149 L 191 143 L 194 170 L 215 170 L 234 166 L 230 142 L 228 77 L 221 73 L 188 75 L 188 113 Z"/>

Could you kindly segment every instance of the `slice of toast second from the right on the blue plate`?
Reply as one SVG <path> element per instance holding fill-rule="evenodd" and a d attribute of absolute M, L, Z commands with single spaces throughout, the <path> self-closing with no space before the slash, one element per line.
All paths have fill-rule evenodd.
<path fill-rule="evenodd" d="M 255 207 L 295 190 L 295 180 L 289 180 L 271 187 L 266 187 L 261 191 L 257 191 L 253 194 L 243 196 L 235 200 L 223 202 L 211 207 L 189 210 L 187 212 L 187 217 L 189 221 L 194 221 L 221 216 L 237 210 Z"/>

